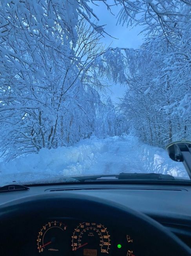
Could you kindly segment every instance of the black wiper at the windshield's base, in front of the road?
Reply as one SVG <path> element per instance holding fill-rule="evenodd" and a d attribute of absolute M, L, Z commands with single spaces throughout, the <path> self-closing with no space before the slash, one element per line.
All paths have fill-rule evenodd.
<path fill-rule="evenodd" d="M 99 174 L 73 177 L 80 182 L 91 180 L 175 180 L 169 174 L 161 173 L 120 173 L 120 174 Z"/>

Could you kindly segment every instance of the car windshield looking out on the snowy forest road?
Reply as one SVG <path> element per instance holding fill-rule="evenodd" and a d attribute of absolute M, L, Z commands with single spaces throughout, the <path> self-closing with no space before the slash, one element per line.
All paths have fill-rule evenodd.
<path fill-rule="evenodd" d="M 190 180 L 190 38 L 189 1 L 0 0 L 0 186 Z"/>

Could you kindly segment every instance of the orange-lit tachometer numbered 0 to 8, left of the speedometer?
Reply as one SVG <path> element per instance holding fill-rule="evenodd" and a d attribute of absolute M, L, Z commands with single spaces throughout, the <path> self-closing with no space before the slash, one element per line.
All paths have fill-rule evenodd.
<path fill-rule="evenodd" d="M 38 232 L 37 246 L 38 252 L 45 255 L 64 255 L 65 230 L 67 226 L 58 221 L 51 221 L 45 224 Z"/>

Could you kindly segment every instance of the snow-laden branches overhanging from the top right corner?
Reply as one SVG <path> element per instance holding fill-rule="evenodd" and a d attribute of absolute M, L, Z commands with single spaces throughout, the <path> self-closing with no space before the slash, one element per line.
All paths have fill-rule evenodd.
<path fill-rule="evenodd" d="M 121 6 L 118 22 L 125 26 L 143 26 L 151 37 L 166 39 L 171 35 L 180 36 L 182 25 L 191 18 L 191 2 L 185 0 L 115 0 Z M 182 24 L 183 23 L 183 24 Z"/>

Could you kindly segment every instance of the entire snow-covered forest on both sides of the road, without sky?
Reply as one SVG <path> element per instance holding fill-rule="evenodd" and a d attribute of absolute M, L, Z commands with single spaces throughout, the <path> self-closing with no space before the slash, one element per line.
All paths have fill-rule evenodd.
<path fill-rule="evenodd" d="M 5 161 L 95 135 L 158 147 L 191 137 L 190 0 L 114 0 L 138 49 L 107 48 L 87 0 L 0 0 L 0 154 Z M 111 3 L 111 1 L 109 1 Z M 91 5 L 90 5 L 91 4 Z M 125 86 L 118 105 L 110 83 Z M 102 95 L 106 95 L 103 97 Z"/>

